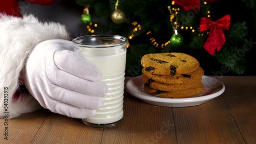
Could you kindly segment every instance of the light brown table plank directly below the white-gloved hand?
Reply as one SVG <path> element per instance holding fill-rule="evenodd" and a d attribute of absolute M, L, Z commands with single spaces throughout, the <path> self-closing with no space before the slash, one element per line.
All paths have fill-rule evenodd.
<path fill-rule="evenodd" d="M 33 143 L 100 143 L 102 131 L 84 125 L 81 119 L 51 113 Z"/>

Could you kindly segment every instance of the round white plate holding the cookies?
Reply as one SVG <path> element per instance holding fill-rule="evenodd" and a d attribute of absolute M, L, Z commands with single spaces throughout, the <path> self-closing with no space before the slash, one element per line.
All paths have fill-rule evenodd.
<path fill-rule="evenodd" d="M 225 85 L 218 79 L 203 76 L 202 84 L 205 90 L 196 95 L 196 97 L 191 98 L 160 98 L 144 91 L 144 84 L 141 81 L 141 76 L 130 79 L 126 85 L 125 89 L 128 93 L 134 97 L 152 105 L 165 106 L 165 107 L 188 107 L 203 104 L 211 99 L 214 99 L 221 95 L 225 90 Z"/>

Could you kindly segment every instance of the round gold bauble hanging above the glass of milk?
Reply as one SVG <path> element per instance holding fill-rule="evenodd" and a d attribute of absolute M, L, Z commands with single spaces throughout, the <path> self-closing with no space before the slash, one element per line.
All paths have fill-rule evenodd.
<path fill-rule="evenodd" d="M 120 24 L 120 23 L 123 23 L 123 22 L 124 22 L 124 20 L 125 20 L 125 14 L 124 14 L 123 11 L 117 9 L 117 7 L 118 7 L 118 1 L 119 1 L 119 0 L 116 1 L 116 4 L 115 4 L 115 11 L 111 14 L 111 19 L 112 19 L 113 22 Z"/>

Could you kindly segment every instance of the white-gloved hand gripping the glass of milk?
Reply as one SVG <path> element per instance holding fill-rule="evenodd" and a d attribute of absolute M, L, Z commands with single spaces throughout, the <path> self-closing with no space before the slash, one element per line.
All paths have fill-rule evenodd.
<path fill-rule="evenodd" d="M 44 108 L 74 118 L 95 115 L 108 88 L 98 68 L 74 53 L 68 40 L 37 44 L 23 70 L 23 80 Z"/>

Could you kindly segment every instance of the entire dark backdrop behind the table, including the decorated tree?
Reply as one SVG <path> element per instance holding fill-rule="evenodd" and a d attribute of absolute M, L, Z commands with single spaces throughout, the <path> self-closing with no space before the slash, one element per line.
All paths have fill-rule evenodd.
<path fill-rule="evenodd" d="M 256 75 L 255 0 L 56 0 L 50 5 L 28 1 L 18 5 L 22 15 L 65 25 L 72 38 L 89 34 L 129 38 L 126 76 L 141 75 L 144 54 L 165 52 L 194 56 L 205 75 Z M 206 30 L 200 31 L 200 26 Z"/>

